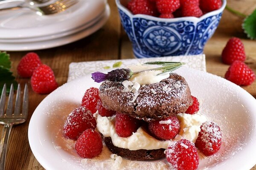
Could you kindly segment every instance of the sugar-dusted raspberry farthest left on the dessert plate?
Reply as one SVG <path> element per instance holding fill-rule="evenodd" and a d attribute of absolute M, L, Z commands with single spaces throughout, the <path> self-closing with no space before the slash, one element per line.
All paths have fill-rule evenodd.
<path fill-rule="evenodd" d="M 77 139 L 84 130 L 95 128 L 96 120 L 93 114 L 87 108 L 81 106 L 67 116 L 63 133 L 70 139 Z"/>

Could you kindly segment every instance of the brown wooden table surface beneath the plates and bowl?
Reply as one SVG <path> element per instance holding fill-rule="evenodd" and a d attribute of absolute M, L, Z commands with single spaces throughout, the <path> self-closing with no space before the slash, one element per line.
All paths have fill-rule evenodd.
<path fill-rule="evenodd" d="M 35 51 L 41 57 L 42 62 L 52 68 L 59 85 L 67 82 L 70 62 L 134 58 L 131 42 L 122 29 L 114 0 L 108 0 L 108 3 L 111 7 L 111 16 L 105 26 L 95 34 L 61 47 Z M 245 14 L 250 14 L 256 8 L 255 0 L 228 0 L 227 3 Z M 246 63 L 256 72 L 256 40 L 246 38 L 241 29 L 241 23 L 242 18 L 224 11 L 218 29 L 204 49 L 209 73 L 224 77 L 229 66 L 221 62 L 221 51 L 227 40 L 233 36 L 241 38 L 244 42 L 247 54 Z M 29 84 L 29 116 L 24 124 L 16 125 L 12 129 L 6 170 L 44 169 L 30 150 L 27 131 L 32 113 L 47 95 L 35 94 L 30 87 L 30 79 L 20 78 L 16 71 L 20 58 L 27 52 L 29 51 L 8 52 L 12 60 L 12 71 L 17 77 L 17 81 L 21 83 L 22 87 L 24 83 Z M 242 88 L 256 98 L 256 82 Z M 251 170 L 256 170 L 256 166 Z"/>

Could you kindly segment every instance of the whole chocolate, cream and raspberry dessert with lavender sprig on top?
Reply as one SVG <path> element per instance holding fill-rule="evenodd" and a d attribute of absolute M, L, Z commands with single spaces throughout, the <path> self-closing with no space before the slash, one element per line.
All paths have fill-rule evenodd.
<path fill-rule="evenodd" d="M 77 139 L 79 156 L 99 155 L 100 136 L 118 156 L 135 161 L 166 157 L 178 170 L 197 169 L 197 150 L 205 156 L 216 153 L 220 128 L 198 113 L 199 102 L 188 83 L 172 73 L 183 64 L 147 62 L 93 73 L 94 81 L 102 84 L 85 92 L 81 107 L 68 116 L 63 130 L 68 138 Z"/>

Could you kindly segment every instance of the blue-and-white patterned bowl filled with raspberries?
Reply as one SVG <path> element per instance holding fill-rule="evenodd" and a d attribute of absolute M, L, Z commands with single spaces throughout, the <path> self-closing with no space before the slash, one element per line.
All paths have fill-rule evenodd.
<path fill-rule="evenodd" d="M 226 0 L 116 0 L 137 58 L 202 54 Z"/>

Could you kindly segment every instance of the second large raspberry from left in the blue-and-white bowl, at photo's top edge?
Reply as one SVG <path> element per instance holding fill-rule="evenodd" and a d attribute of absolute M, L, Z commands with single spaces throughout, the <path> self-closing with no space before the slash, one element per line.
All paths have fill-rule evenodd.
<path fill-rule="evenodd" d="M 170 14 L 180 7 L 180 0 L 157 0 L 156 5 L 161 14 Z"/>

